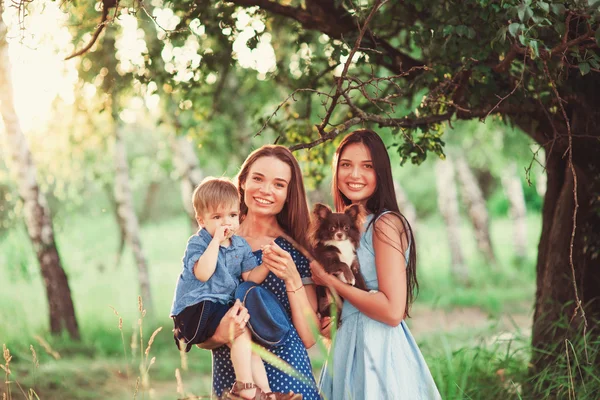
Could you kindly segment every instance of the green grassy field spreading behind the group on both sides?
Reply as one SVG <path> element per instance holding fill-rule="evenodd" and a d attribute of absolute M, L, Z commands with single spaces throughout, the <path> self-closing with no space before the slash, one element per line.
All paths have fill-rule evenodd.
<path fill-rule="evenodd" d="M 510 341 L 494 340 L 499 328 L 493 322 L 508 312 L 523 314 L 531 308 L 539 215 L 530 216 L 528 222 L 530 253 L 517 263 L 513 260 L 510 222 L 493 221 L 499 260 L 495 270 L 477 254 L 470 226 L 462 227 L 471 272 L 469 287 L 453 283 L 441 221 L 420 221 L 417 226 L 421 291 L 415 313 L 438 310 L 452 315 L 453 310 L 466 307 L 476 308 L 486 317 L 477 327 L 448 332 L 428 329 L 429 322 L 419 320 L 418 315 L 409 323 L 421 325 L 414 326 L 415 332 L 422 332 L 416 339 L 444 398 L 517 396 L 518 377 L 524 375 L 527 366 L 528 334 L 517 333 Z M 0 342 L 13 356 L 12 374 L 7 379 L 13 383 L 0 384 L 0 393 L 8 393 L 10 388 L 12 398 L 25 398 L 15 381 L 24 392 L 34 388 L 41 399 L 173 399 L 183 398 L 183 393 L 209 393 L 210 353 L 194 349 L 185 360 L 184 370 L 168 317 L 180 259 L 191 233 L 188 220 L 172 218 L 143 227 L 142 244 L 155 309 L 153 317 L 143 319 L 130 252 L 126 250 L 121 264 L 115 265 L 119 237 L 114 218 L 101 211 L 76 216 L 62 221 L 56 231 L 82 340 L 73 343 L 49 336 L 45 291 L 31 245 L 22 229 L 8 232 L 0 238 Z M 119 318 L 123 321 L 121 329 Z M 146 356 L 150 336 L 161 327 Z M 60 358 L 53 357 L 53 352 Z M 324 352 L 311 350 L 311 357 L 318 373 Z M 175 378 L 178 368 L 183 383 L 180 394 Z M 144 379 L 136 392 L 138 376 Z"/>

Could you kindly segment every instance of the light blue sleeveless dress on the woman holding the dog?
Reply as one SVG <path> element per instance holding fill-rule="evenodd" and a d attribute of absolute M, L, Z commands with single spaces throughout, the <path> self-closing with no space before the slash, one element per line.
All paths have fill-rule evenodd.
<path fill-rule="evenodd" d="M 365 226 L 372 219 L 373 215 L 369 215 Z M 373 226 L 363 233 L 357 255 L 367 287 L 378 290 Z M 408 260 L 408 250 L 405 257 Z M 441 399 L 404 321 L 391 327 L 367 317 L 345 301 L 332 351 L 333 363 L 325 365 L 321 372 L 324 399 Z"/>

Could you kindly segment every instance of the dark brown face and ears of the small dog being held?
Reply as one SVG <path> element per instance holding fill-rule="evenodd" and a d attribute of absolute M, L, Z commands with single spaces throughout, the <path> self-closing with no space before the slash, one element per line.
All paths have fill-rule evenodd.
<path fill-rule="evenodd" d="M 357 204 L 346 207 L 343 213 L 334 213 L 325 204 L 317 203 L 313 210 L 314 239 L 316 242 L 350 239 L 356 247 L 360 238 L 361 210 Z"/>

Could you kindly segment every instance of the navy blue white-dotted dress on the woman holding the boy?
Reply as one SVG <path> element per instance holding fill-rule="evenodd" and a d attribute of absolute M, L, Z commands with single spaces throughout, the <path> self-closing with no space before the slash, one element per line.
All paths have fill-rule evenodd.
<path fill-rule="evenodd" d="M 285 251 L 291 254 L 300 277 L 304 282 L 310 279 L 311 273 L 308 266 L 308 260 L 298 250 L 296 250 L 287 240 L 282 237 L 275 239 L 275 243 Z M 262 263 L 262 251 L 257 250 L 254 252 L 258 263 Z M 269 289 L 277 296 L 281 304 L 286 309 L 290 320 L 292 318 L 292 311 L 290 309 L 290 302 L 285 290 L 285 283 L 279 279 L 272 272 L 267 275 L 267 278 L 263 281 L 261 286 Z M 283 361 L 290 364 L 300 374 L 304 375 L 310 382 L 311 385 L 303 383 L 296 378 L 281 372 L 272 365 L 265 363 L 265 369 L 267 370 L 267 377 L 269 379 L 269 386 L 274 392 L 287 393 L 293 391 L 294 393 L 301 393 L 304 400 L 317 400 L 319 396 L 317 386 L 315 383 L 314 376 L 310 365 L 310 359 L 306 348 L 298 336 L 298 332 L 295 328 L 288 335 L 287 340 L 281 346 L 272 350 L 273 354 L 281 358 Z M 217 396 L 221 396 L 225 389 L 230 389 L 235 381 L 235 372 L 233 365 L 231 364 L 231 356 L 229 347 L 221 346 L 212 351 L 213 359 L 213 390 Z"/>

